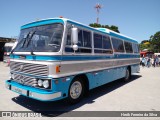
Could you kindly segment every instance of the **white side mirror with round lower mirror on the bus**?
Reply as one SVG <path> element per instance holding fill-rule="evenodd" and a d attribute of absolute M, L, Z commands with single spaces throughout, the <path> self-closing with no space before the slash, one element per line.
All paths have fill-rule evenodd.
<path fill-rule="evenodd" d="M 73 43 L 73 50 L 77 51 L 78 50 L 78 28 L 72 28 L 71 30 L 71 39 Z"/>

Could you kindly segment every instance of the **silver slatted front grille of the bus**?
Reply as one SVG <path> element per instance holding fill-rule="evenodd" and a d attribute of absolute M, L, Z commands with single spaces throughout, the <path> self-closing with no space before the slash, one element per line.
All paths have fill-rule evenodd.
<path fill-rule="evenodd" d="M 11 61 L 10 70 L 11 72 L 21 72 L 36 76 L 48 76 L 48 66 L 42 64 Z"/>

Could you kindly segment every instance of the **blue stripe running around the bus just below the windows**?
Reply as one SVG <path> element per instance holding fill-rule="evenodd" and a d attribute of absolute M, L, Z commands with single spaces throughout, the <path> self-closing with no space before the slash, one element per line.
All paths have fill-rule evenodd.
<path fill-rule="evenodd" d="M 10 55 L 12 59 L 19 59 L 19 55 Z M 104 60 L 104 59 L 124 59 L 124 58 L 139 58 L 139 55 L 124 55 L 115 54 L 114 56 L 32 56 L 26 55 L 27 60 L 39 61 L 75 61 L 75 60 Z"/>

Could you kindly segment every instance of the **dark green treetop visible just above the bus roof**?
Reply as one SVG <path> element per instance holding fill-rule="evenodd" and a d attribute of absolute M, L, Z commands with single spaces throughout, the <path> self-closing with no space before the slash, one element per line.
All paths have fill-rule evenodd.
<path fill-rule="evenodd" d="M 120 31 L 118 30 L 118 27 L 115 25 L 109 26 L 109 25 L 101 25 L 101 24 L 97 24 L 97 23 L 91 23 L 91 24 L 89 24 L 89 26 L 94 27 L 94 28 L 108 28 L 110 30 L 113 30 L 115 32 L 120 33 Z"/>

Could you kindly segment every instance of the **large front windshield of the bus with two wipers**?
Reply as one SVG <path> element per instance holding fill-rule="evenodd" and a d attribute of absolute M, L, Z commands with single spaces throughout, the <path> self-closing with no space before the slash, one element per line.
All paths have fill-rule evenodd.
<path fill-rule="evenodd" d="M 63 24 L 55 23 L 22 29 L 14 52 L 58 52 Z"/>

